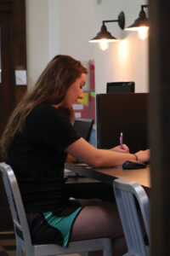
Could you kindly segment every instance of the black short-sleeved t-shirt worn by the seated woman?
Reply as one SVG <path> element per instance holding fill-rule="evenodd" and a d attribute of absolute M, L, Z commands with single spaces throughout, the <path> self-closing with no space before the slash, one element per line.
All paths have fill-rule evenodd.
<path fill-rule="evenodd" d="M 40 104 L 26 117 L 8 156 L 26 212 L 62 212 L 68 206 L 64 150 L 79 138 L 63 108 Z"/>

